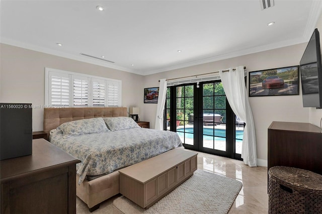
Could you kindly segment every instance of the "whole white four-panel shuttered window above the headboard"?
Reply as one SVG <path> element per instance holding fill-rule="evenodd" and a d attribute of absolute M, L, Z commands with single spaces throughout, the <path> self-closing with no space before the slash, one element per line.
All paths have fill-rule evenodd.
<path fill-rule="evenodd" d="M 46 105 L 121 106 L 121 80 L 52 68 L 46 68 L 45 75 Z"/>

